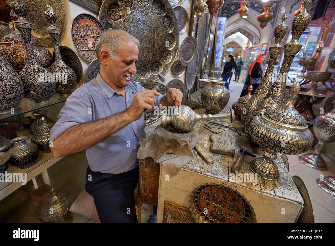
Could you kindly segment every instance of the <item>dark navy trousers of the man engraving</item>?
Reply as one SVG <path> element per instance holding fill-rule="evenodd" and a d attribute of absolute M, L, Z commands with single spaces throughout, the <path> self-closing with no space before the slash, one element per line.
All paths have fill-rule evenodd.
<path fill-rule="evenodd" d="M 93 196 L 101 223 L 137 223 L 137 182 L 138 167 L 120 174 L 93 172 L 87 167 L 85 189 Z"/>

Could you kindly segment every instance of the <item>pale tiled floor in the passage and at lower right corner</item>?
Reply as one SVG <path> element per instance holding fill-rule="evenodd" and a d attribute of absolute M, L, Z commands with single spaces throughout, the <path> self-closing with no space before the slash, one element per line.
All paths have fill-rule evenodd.
<path fill-rule="evenodd" d="M 226 108 L 230 108 L 231 105 L 236 102 L 241 94 L 245 79 L 240 79 L 239 82 L 232 81 L 229 85 L 230 98 Z M 311 148 L 306 153 L 312 153 L 314 151 Z M 320 178 L 320 175 L 334 176 L 335 175 L 335 164 L 329 160 L 325 155 L 322 157 L 327 162 L 329 167 L 328 171 L 319 171 L 302 164 L 298 157 L 300 155 L 289 155 L 289 174 L 291 176 L 299 176 L 305 183 L 310 197 L 312 199 L 312 206 L 314 210 L 314 219 L 316 223 L 335 223 L 335 197 L 323 191 L 316 183 L 316 179 Z"/>

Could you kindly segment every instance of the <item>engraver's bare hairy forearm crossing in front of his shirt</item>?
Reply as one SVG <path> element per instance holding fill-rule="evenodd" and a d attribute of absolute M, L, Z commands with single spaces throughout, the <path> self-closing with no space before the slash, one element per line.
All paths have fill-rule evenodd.
<path fill-rule="evenodd" d="M 104 119 L 70 127 L 53 141 L 52 154 L 60 157 L 85 150 L 124 128 L 131 121 L 125 110 Z"/>

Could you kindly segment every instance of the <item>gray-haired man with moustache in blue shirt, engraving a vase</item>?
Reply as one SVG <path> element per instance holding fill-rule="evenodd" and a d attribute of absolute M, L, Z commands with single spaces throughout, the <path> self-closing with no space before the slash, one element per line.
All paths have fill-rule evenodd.
<path fill-rule="evenodd" d="M 137 222 L 138 141 L 145 137 L 143 112 L 181 105 L 183 93 L 162 96 L 131 81 L 139 42 L 122 30 L 104 32 L 97 45 L 100 73 L 66 100 L 51 129 L 54 157 L 86 149 L 85 189 L 101 222 Z M 175 103 L 174 103 L 175 100 Z"/>

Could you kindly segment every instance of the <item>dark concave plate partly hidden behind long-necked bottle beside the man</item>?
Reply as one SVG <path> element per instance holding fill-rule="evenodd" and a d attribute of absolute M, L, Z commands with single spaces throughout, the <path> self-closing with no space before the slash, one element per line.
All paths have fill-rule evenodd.
<path fill-rule="evenodd" d="M 80 82 L 83 77 L 83 67 L 81 65 L 80 59 L 77 54 L 71 50 L 69 47 L 60 45 L 59 49 L 61 50 L 61 56 L 66 65 L 68 65 L 77 76 L 77 83 Z M 55 52 L 52 54 L 53 59 L 55 60 Z"/>

